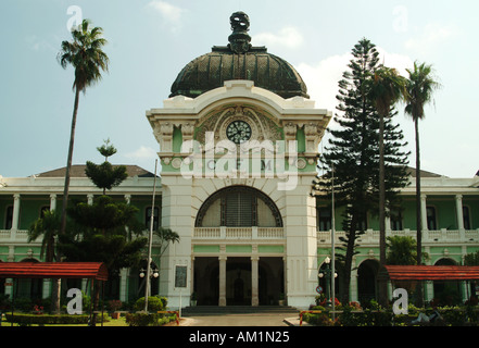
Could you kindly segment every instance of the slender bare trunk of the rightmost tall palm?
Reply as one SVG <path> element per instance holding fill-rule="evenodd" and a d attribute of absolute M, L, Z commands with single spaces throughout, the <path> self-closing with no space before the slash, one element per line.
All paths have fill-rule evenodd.
<path fill-rule="evenodd" d="M 420 152 L 419 152 L 419 119 L 415 117 L 414 120 L 414 128 L 416 132 L 416 246 L 417 246 L 417 259 L 416 263 L 423 263 L 423 219 L 421 219 L 421 209 L 420 209 Z M 417 307 L 424 307 L 423 299 L 423 283 L 419 284 L 416 290 L 417 298 L 416 304 Z"/>

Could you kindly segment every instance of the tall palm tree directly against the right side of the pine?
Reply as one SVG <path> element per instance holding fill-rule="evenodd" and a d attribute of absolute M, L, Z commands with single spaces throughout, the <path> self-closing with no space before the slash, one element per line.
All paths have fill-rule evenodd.
<path fill-rule="evenodd" d="M 405 78 L 395 69 L 380 66 L 370 79 L 370 98 L 379 114 L 379 262 L 386 265 L 385 117 L 405 98 Z M 380 277 L 379 302 L 386 304 L 386 282 Z"/>

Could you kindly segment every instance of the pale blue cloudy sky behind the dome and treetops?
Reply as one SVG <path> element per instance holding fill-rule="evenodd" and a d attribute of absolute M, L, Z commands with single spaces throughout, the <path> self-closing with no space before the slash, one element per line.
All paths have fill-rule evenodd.
<path fill-rule="evenodd" d="M 1 0 L 0 175 L 66 165 L 74 74 L 56 55 L 83 18 L 103 28 L 110 65 L 80 96 L 73 163 L 102 162 L 97 147 L 110 139 L 118 150 L 111 162 L 154 172 L 159 145 L 146 112 L 163 107 L 186 64 L 228 44 L 236 11 L 250 17 L 251 44 L 291 63 L 316 108 L 333 113 L 338 80 L 363 38 L 404 76 L 414 61 L 432 64 L 442 88 L 419 123 L 421 169 L 449 177 L 479 170 L 478 1 Z M 398 110 L 415 166 L 414 123 Z"/>

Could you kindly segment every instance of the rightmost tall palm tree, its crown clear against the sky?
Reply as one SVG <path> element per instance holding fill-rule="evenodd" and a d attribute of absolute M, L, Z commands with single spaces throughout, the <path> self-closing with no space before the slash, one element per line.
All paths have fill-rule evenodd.
<path fill-rule="evenodd" d="M 419 149 L 419 120 L 425 117 L 424 107 L 433 101 L 432 94 L 441 85 L 433 76 L 432 66 L 425 63 L 414 62 L 414 70 L 406 70 L 409 78 L 406 82 L 406 107 L 404 112 L 414 121 L 416 135 L 416 262 L 420 264 L 423 259 L 423 220 L 420 213 L 420 149 Z M 418 288 L 418 306 L 423 304 L 421 288 Z"/>

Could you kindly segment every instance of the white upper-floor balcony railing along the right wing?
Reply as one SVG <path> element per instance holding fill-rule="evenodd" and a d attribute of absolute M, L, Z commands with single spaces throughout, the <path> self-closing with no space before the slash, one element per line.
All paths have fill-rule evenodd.
<path fill-rule="evenodd" d="M 416 231 L 402 229 L 402 231 L 387 231 L 386 236 L 408 236 L 416 239 Z M 343 231 L 335 233 L 335 241 L 340 243 L 340 237 L 345 237 Z M 317 240 L 319 245 L 331 244 L 331 231 L 318 231 Z M 358 237 L 357 243 L 361 245 L 375 245 L 379 243 L 379 231 L 367 229 L 363 235 Z M 441 244 L 441 243 L 479 243 L 479 228 L 478 229 L 437 229 L 437 231 L 424 231 L 423 232 L 424 244 Z"/>

